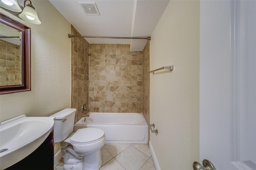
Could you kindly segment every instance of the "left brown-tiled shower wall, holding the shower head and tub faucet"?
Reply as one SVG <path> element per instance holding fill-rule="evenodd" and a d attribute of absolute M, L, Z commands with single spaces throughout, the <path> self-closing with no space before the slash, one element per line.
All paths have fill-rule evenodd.
<path fill-rule="evenodd" d="M 71 25 L 71 34 L 81 34 Z M 71 108 L 75 108 L 75 122 L 82 118 L 82 105 L 89 107 L 89 43 L 84 38 L 71 38 Z M 88 113 L 89 109 L 86 112 Z"/>

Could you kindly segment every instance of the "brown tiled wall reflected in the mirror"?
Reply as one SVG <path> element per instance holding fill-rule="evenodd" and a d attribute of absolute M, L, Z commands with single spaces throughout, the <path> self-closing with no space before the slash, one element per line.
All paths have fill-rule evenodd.
<path fill-rule="evenodd" d="M 20 45 L 0 40 L 0 85 L 21 84 Z"/>

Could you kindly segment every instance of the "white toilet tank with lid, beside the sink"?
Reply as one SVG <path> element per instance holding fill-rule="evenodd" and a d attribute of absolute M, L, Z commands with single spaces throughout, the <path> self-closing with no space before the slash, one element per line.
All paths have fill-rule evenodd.
<path fill-rule="evenodd" d="M 54 143 L 62 142 L 73 132 L 75 113 L 76 109 L 64 109 L 50 116 L 55 117 Z"/>

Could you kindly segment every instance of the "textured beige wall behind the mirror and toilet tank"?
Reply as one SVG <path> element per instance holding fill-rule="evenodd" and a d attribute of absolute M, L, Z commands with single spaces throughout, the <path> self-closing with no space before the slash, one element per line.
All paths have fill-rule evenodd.
<path fill-rule="evenodd" d="M 0 121 L 22 114 L 50 116 L 70 107 L 70 23 L 48 0 L 32 0 L 42 22 L 31 28 L 31 91 L 0 96 Z M 53 17 L 54 16 L 54 17 Z"/>

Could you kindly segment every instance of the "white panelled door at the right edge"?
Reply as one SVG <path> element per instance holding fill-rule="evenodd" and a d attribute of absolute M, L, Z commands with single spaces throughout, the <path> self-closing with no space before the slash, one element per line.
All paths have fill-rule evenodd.
<path fill-rule="evenodd" d="M 256 169 L 256 0 L 200 1 L 200 163 Z"/>

